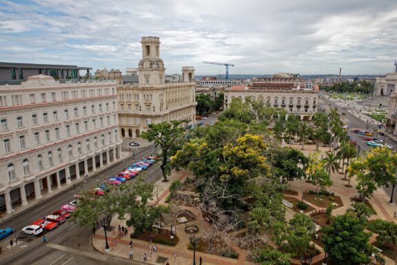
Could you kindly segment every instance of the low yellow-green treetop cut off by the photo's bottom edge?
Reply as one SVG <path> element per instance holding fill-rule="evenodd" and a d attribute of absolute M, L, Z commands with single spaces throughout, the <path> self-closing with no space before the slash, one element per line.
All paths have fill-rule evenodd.
<path fill-rule="evenodd" d="M 261 265 L 289 265 L 291 255 L 276 249 L 264 247 L 256 248 L 252 251 L 252 259 Z"/>

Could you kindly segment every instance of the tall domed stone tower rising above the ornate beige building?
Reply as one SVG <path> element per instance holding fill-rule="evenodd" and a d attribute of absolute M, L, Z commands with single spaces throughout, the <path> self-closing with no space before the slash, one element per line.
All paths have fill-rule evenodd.
<path fill-rule="evenodd" d="M 159 37 L 142 37 L 142 59 L 138 64 L 139 86 L 165 84 L 165 68 L 160 59 Z"/>

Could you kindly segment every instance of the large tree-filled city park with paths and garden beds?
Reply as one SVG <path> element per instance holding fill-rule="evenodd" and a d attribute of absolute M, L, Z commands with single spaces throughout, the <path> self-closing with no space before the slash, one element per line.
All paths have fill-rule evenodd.
<path fill-rule="evenodd" d="M 132 239 L 135 253 L 158 244 L 165 261 L 178 252 L 187 262 L 191 250 L 205 264 L 396 262 L 397 224 L 374 196 L 396 184 L 397 155 L 358 155 L 336 109 L 312 121 L 285 115 L 236 98 L 212 126 L 186 133 L 182 121 L 151 124 L 142 137 L 159 150 L 163 181 L 86 193 L 72 219 L 95 231 L 105 217 L 116 242 Z M 114 235 L 120 223 L 128 235 Z"/>

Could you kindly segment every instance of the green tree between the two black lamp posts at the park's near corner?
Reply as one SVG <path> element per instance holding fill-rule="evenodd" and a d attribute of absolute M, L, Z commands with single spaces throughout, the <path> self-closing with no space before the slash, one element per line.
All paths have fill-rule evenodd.
<path fill-rule="evenodd" d="M 117 213 L 119 219 L 127 217 L 127 225 L 134 227 L 134 234 L 152 231 L 152 226 L 159 222 L 161 215 L 167 213 L 165 206 L 157 205 L 154 198 L 154 184 L 138 178 L 132 184 L 123 184 L 119 197 Z M 151 201 L 154 200 L 154 203 Z"/>

